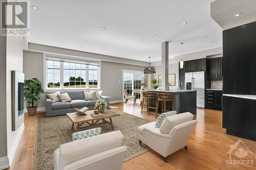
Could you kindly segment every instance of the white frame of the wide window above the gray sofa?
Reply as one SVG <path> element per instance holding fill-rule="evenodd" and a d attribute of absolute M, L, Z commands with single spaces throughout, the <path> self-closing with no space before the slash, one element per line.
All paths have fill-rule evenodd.
<path fill-rule="evenodd" d="M 48 85 L 47 85 L 47 83 L 48 83 L 47 60 L 51 60 L 51 59 L 56 59 L 55 61 L 60 61 L 60 82 L 59 82 L 60 86 L 59 86 L 59 88 L 48 88 Z M 66 60 L 66 61 L 61 61 L 62 59 Z M 79 64 L 86 65 L 86 88 L 64 88 L 63 62 L 71 62 L 70 60 L 76 61 L 73 63 L 79 63 L 79 62 L 95 63 L 95 65 L 97 65 L 97 67 L 98 67 L 98 82 L 97 82 L 98 87 L 94 87 L 94 88 L 89 87 L 89 64 L 79 63 Z M 91 65 L 93 65 L 93 64 L 91 64 Z M 44 53 L 42 86 L 45 91 L 101 90 L 101 61 L 100 60 L 91 60 L 91 59 L 87 59 L 84 57 L 62 56 L 62 55 L 52 55 L 52 54 Z"/>

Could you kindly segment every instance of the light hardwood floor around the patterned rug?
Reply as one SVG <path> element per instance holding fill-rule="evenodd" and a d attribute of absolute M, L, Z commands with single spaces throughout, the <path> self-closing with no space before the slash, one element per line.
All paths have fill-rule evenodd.
<path fill-rule="evenodd" d="M 155 115 L 140 113 L 140 106 L 133 102 L 112 104 L 112 107 L 130 113 L 147 120 L 155 121 Z M 230 145 L 239 138 L 225 133 L 222 129 L 222 112 L 216 110 L 197 110 L 198 124 L 195 131 L 188 140 L 188 151 L 181 149 L 168 156 L 165 163 L 162 157 L 151 150 L 138 157 L 123 163 L 122 170 L 138 169 L 255 169 L 255 155 L 248 154 L 246 159 L 253 160 L 253 167 L 227 167 L 226 160 L 229 160 L 227 152 Z M 37 113 L 45 114 L 44 112 Z M 35 133 L 37 128 L 37 115 L 25 114 L 25 130 L 20 139 L 18 149 L 15 153 L 10 169 L 33 169 Z M 241 138 L 244 144 L 252 153 L 256 153 L 256 142 Z M 232 155 L 233 159 L 237 159 Z M 242 159 L 244 160 L 244 159 Z"/>

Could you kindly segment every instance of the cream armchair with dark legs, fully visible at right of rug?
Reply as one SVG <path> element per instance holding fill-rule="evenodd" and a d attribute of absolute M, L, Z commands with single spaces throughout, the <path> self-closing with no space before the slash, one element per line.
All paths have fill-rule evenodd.
<path fill-rule="evenodd" d="M 151 122 L 138 127 L 139 143 L 148 145 L 167 162 L 170 154 L 182 148 L 187 150 L 187 140 L 195 129 L 197 120 L 193 120 L 193 114 L 186 112 L 166 117 L 160 128 L 155 128 L 155 124 L 156 122 Z"/>

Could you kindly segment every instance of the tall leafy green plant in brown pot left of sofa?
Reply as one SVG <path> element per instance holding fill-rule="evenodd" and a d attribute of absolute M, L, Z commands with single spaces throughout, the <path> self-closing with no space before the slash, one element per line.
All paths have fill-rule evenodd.
<path fill-rule="evenodd" d="M 36 79 L 25 80 L 24 82 L 24 97 L 27 102 L 28 114 L 35 115 L 37 106 L 41 99 L 41 93 L 44 93 L 41 82 Z"/>

